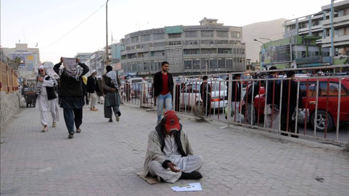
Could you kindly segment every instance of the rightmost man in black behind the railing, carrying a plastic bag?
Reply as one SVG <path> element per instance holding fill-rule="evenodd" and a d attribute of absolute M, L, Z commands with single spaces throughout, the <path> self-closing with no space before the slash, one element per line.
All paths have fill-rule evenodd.
<path fill-rule="evenodd" d="M 291 80 L 282 81 L 282 100 L 281 100 L 281 130 L 287 132 L 298 133 L 296 130 L 296 121 L 292 120 L 292 114 L 296 110 L 297 106 L 297 82 L 294 81 L 295 71 L 289 70 L 286 72 L 287 78 Z M 302 93 L 298 96 L 298 108 L 303 108 Z M 287 133 L 281 133 L 281 135 L 287 136 Z M 291 135 L 291 137 L 298 138 L 298 135 Z"/>

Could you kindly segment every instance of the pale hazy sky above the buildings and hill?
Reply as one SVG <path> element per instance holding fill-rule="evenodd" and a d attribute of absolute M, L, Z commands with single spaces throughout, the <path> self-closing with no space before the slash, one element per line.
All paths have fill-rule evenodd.
<path fill-rule="evenodd" d="M 60 56 L 101 50 L 106 44 L 105 2 L 0 0 L 1 46 L 14 48 L 18 40 L 28 43 L 28 47 L 38 43 L 41 62 L 58 62 Z M 224 25 L 243 26 L 310 15 L 329 4 L 331 0 L 109 0 L 108 43 L 111 34 L 119 42 L 139 29 L 199 25 L 203 17 L 216 18 Z"/>

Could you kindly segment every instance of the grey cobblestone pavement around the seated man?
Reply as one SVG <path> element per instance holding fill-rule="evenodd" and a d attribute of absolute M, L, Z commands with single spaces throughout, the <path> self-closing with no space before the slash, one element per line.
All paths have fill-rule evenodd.
<path fill-rule="evenodd" d="M 102 105 L 97 107 L 83 108 L 82 131 L 73 139 L 62 110 L 58 126 L 47 133 L 41 133 L 34 108 L 8 120 L 1 130 L 1 196 L 348 195 L 349 155 L 343 148 L 186 115 L 181 123 L 194 152 L 205 159 L 204 177 L 149 185 L 135 173 L 142 170 L 156 112 L 122 105 L 120 122 L 107 123 Z M 170 188 L 198 181 L 202 191 Z"/>

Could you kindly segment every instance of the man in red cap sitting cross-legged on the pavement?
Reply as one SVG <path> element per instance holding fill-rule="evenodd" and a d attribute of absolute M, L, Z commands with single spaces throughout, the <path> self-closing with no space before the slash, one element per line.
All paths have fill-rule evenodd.
<path fill-rule="evenodd" d="M 159 181 L 174 183 L 178 179 L 200 179 L 203 164 L 200 155 L 193 155 L 188 136 L 177 114 L 168 110 L 161 122 L 150 131 L 144 162 L 144 175 L 158 176 Z"/>

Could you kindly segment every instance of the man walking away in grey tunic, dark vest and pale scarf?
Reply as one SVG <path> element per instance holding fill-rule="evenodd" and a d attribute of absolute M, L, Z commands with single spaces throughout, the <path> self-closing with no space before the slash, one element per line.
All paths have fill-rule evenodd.
<path fill-rule="evenodd" d="M 106 66 L 107 73 L 102 76 L 102 87 L 105 92 L 104 100 L 104 118 L 109 118 L 108 122 L 113 122 L 112 110 L 114 111 L 115 119 L 117 122 L 120 120 L 120 94 L 119 89 L 121 81 L 119 76 L 113 71 L 113 67 Z"/>

